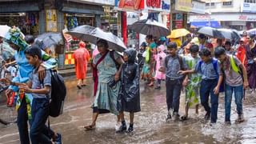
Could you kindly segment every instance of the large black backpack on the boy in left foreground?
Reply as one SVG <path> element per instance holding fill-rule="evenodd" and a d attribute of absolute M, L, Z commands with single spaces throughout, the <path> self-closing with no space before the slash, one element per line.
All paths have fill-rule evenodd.
<path fill-rule="evenodd" d="M 50 113 L 51 117 L 58 117 L 62 114 L 64 100 L 66 97 L 66 86 L 64 78 L 58 74 L 57 70 L 50 70 L 51 75 L 51 94 L 50 94 Z"/>

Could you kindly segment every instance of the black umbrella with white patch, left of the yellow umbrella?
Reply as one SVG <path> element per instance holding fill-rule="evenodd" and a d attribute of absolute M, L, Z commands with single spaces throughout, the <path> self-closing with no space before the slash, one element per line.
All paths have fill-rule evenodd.
<path fill-rule="evenodd" d="M 153 35 L 158 38 L 170 34 L 170 30 L 165 25 L 153 19 L 139 20 L 134 22 L 130 28 L 140 34 Z"/>

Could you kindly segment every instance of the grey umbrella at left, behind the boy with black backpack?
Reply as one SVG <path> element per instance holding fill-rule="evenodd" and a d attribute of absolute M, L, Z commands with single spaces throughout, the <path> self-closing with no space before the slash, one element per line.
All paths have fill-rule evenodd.
<path fill-rule="evenodd" d="M 37 44 L 42 50 L 45 50 L 47 47 L 55 45 L 63 45 L 63 37 L 61 33 L 45 33 L 41 34 L 34 40 L 34 43 Z"/>

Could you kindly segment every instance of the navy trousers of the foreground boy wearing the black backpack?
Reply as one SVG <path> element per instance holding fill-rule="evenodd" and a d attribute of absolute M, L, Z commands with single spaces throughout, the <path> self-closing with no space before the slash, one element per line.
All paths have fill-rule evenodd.
<path fill-rule="evenodd" d="M 48 129 L 45 125 L 49 116 L 49 100 L 47 98 L 34 98 L 31 114 L 30 139 L 32 144 L 51 144 L 52 142 L 48 134 L 46 134 Z"/>

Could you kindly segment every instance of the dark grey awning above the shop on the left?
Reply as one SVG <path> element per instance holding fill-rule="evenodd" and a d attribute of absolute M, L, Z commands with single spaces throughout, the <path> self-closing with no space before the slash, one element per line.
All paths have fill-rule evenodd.
<path fill-rule="evenodd" d="M 73 14 L 104 14 L 102 6 L 86 5 L 74 2 L 64 3 L 61 11 Z"/>

